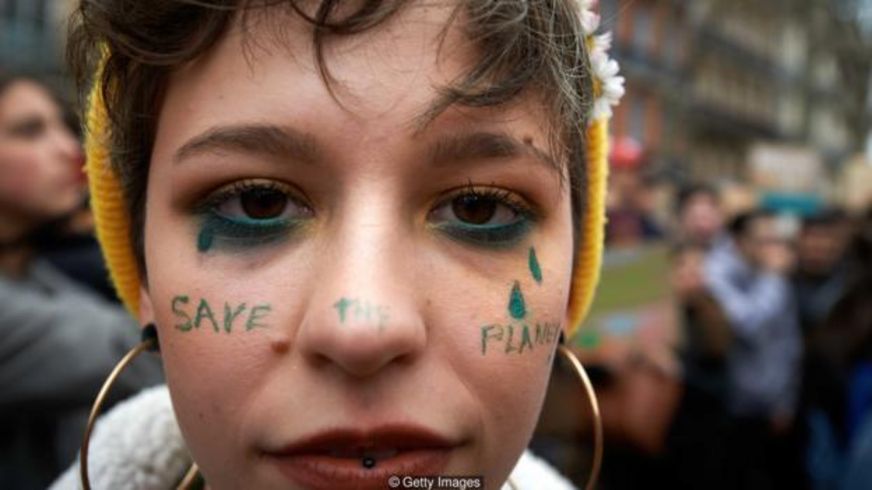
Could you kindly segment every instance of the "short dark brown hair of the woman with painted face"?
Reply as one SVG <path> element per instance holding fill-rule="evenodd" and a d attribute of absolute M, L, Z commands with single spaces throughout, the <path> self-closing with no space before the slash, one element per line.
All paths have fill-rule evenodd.
<path fill-rule="evenodd" d="M 324 41 L 376 28 L 408 3 L 360 0 L 348 13 L 341 0 L 81 0 L 67 55 L 84 89 L 100 53 L 108 51 L 94 83 L 104 93 L 112 166 L 127 200 L 133 253 L 143 276 L 148 167 L 161 94 L 172 71 L 207 52 L 237 14 L 244 23 L 254 9 L 285 8 L 312 26 L 317 64 L 329 88 Z M 458 0 L 455 13 L 464 15 L 452 15 L 449 22 L 463 19 L 480 57 L 457 83 L 442 88 L 436 110 L 494 107 L 522 94 L 538 96 L 555 118 L 552 151 L 567 161 L 577 233 L 587 187 L 584 135 L 593 102 L 577 0 Z"/>

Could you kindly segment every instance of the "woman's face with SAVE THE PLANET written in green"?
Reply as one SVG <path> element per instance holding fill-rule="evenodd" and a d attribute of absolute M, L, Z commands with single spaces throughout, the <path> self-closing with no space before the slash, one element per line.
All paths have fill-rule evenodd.
<path fill-rule="evenodd" d="M 473 61 L 459 27 L 437 59 L 447 16 L 410 7 L 328 44 L 342 105 L 290 18 L 281 43 L 261 19 L 170 81 L 142 320 L 213 488 L 496 487 L 529 441 L 567 310 L 569 186 L 532 97 L 420 124 Z"/>

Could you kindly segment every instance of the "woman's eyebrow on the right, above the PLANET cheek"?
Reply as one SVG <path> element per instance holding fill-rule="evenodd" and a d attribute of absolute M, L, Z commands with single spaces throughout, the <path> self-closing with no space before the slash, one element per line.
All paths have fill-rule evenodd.
<path fill-rule="evenodd" d="M 560 171 L 557 161 L 531 141 L 520 141 L 506 133 L 476 131 L 460 133 L 437 140 L 430 148 L 430 164 L 435 167 L 453 165 L 470 160 L 508 160 L 529 155 Z"/>

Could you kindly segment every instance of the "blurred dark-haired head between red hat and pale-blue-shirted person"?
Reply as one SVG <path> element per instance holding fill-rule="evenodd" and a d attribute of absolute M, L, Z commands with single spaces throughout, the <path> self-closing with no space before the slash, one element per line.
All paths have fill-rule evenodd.
<path fill-rule="evenodd" d="M 724 211 L 714 186 L 695 183 L 681 188 L 675 202 L 678 238 L 708 250 L 724 234 Z"/>

